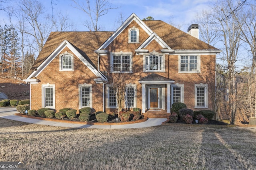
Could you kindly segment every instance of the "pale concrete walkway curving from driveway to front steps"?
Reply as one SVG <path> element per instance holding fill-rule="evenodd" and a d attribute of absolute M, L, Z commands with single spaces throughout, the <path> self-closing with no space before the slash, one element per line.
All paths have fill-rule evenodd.
<path fill-rule="evenodd" d="M 133 123 L 127 125 L 82 125 L 76 123 L 62 123 L 55 121 L 45 121 L 38 119 L 31 119 L 26 117 L 20 117 L 14 115 L 18 113 L 16 107 L 0 107 L 0 117 L 4 119 L 10 119 L 15 121 L 22 121 L 26 123 L 35 123 L 40 125 L 51 125 L 61 127 L 72 127 L 72 128 L 95 128 L 95 129 L 130 129 L 130 128 L 143 128 L 162 125 L 162 122 L 166 121 L 166 118 L 149 118 L 147 121 L 141 123 Z"/>

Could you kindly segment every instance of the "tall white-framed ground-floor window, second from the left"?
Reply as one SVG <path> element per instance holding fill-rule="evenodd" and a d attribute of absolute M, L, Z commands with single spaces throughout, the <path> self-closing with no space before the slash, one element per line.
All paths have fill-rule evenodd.
<path fill-rule="evenodd" d="M 92 107 L 92 84 L 79 84 L 79 108 Z"/>

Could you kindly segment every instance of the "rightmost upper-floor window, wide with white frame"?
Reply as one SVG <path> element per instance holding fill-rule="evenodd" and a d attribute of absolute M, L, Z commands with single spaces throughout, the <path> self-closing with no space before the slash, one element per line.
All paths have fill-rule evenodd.
<path fill-rule="evenodd" d="M 180 72 L 199 72 L 199 57 L 198 55 L 180 55 L 179 71 Z"/>

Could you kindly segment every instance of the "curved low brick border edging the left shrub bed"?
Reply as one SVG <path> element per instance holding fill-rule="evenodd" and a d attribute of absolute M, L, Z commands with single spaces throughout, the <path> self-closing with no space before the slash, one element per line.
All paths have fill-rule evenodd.
<path fill-rule="evenodd" d="M 30 115 L 23 115 L 20 113 L 14 113 L 16 116 L 20 117 L 27 117 L 31 119 L 39 119 L 39 120 L 46 120 L 46 121 L 56 121 L 56 122 L 63 122 L 63 123 L 75 123 L 75 124 L 84 124 L 84 125 L 127 125 L 127 124 L 133 124 L 133 123 L 140 123 L 148 120 L 148 117 L 144 116 L 143 119 L 139 119 L 136 121 L 125 121 L 125 122 L 83 122 L 83 121 L 69 121 L 69 120 L 60 120 L 60 119 L 51 119 L 51 118 L 44 118 L 44 117 L 35 117 Z"/>

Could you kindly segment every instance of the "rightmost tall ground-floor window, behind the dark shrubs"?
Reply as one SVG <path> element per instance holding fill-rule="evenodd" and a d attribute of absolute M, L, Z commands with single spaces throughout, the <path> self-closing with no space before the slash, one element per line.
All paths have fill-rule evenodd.
<path fill-rule="evenodd" d="M 195 108 L 208 108 L 208 84 L 195 84 Z"/>

